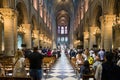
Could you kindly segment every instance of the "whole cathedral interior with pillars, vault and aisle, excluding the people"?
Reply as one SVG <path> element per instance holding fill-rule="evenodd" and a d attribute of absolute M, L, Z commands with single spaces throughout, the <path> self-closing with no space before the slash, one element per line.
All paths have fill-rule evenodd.
<path fill-rule="evenodd" d="M 0 0 L 0 63 L 7 77 L 18 49 L 38 47 L 61 49 L 60 58 L 44 58 L 43 63 L 52 62 L 42 80 L 78 80 L 74 60 L 64 50 L 120 50 L 119 35 L 120 0 Z M 26 71 L 23 80 L 30 79 L 29 65 Z"/>

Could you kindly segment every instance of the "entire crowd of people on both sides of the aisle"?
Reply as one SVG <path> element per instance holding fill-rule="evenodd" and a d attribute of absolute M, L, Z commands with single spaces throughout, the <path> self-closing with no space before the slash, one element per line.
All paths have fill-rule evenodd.
<path fill-rule="evenodd" d="M 79 80 L 84 74 L 91 74 L 94 72 L 96 80 L 120 80 L 120 50 L 104 50 L 104 49 L 66 49 L 66 55 L 70 60 L 76 58 L 76 65 L 81 65 Z M 25 70 L 25 59 L 29 59 L 30 62 L 30 76 L 33 80 L 42 79 L 42 60 L 45 56 L 55 56 L 59 58 L 61 56 L 60 49 L 40 48 L 34 47 L 33 50 L 24 49 L 17 50 L 14 60 L 14 77 L 27 77 Z M 92 70 L 90 66 L 92 65 Z M 0 64 L 0 67 L 2 64 Z M 4 70 L 0 68 L 2 74 L 5 76 Z"/>

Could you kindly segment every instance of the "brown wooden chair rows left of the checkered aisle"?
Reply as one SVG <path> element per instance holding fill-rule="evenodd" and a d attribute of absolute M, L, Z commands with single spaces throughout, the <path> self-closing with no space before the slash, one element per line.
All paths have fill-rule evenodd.
<path fill-rule="evenodd" d="M 13 58 L 14 57 L 1 57 L 0 58 L 0 63 L 3 65 L 1 68 L 4 69 L 5 71 L 5 76 L 6 78 L 11 78 L 10 80 L 13 80 L 12 79 L 12 73 L 13 73 L 13 69 L 14 69 L 14 63 L 13 63 Z M 55 63 L 56 61 L 56 57 L 55 56 L 45 56 L 44 59 L 43 59 L 43 70 L 44 70 L 44 73 L 47 73 L 50 71 L 51 67 L 53 66 L 53 64 Z M 26 71 L 27 73 L 29 73 L 29 60 L 26 59 Z M 29 77 L 29 74 L 28 74 L 28 77 Z M 5 78 L 5 77 L 3 77 Z M 4 79 L 0 79 L 0 80 L 4 80 Z M 6 80 L 6 79 L 5 79 Z"/>

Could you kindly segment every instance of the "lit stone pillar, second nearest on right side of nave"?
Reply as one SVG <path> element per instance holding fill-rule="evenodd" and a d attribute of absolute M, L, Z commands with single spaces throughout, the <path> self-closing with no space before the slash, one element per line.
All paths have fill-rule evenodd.
<path fill-rule="evenodd" d="M 96 27 L 90 27 L 90 42 L 89 42 L 89 49 L 93 48 L 93 45 L 96 44 Z"/>

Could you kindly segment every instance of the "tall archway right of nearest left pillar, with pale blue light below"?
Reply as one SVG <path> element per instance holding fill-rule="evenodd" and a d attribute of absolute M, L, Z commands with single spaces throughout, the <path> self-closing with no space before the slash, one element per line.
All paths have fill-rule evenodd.
<path fill-rule="evenodd" d="M 17 10 L 17 47 L 22 49 L 22 44 L 26 44 L 29 47 L 31 46 L 28 44 L 26 41 L 26 36 L 25 34 L 28 32 L 27 30 L 27 25 L 28 24 L 28 16 L 27 16 L 27 8 L 25 3 L 21 0 L 21 2 L 18 2 L 16 5 L 16 10 Z M 31 35 L 31 34 L 29 34 Z M 31 37 L 31 36 L 30 36 Z"/>

